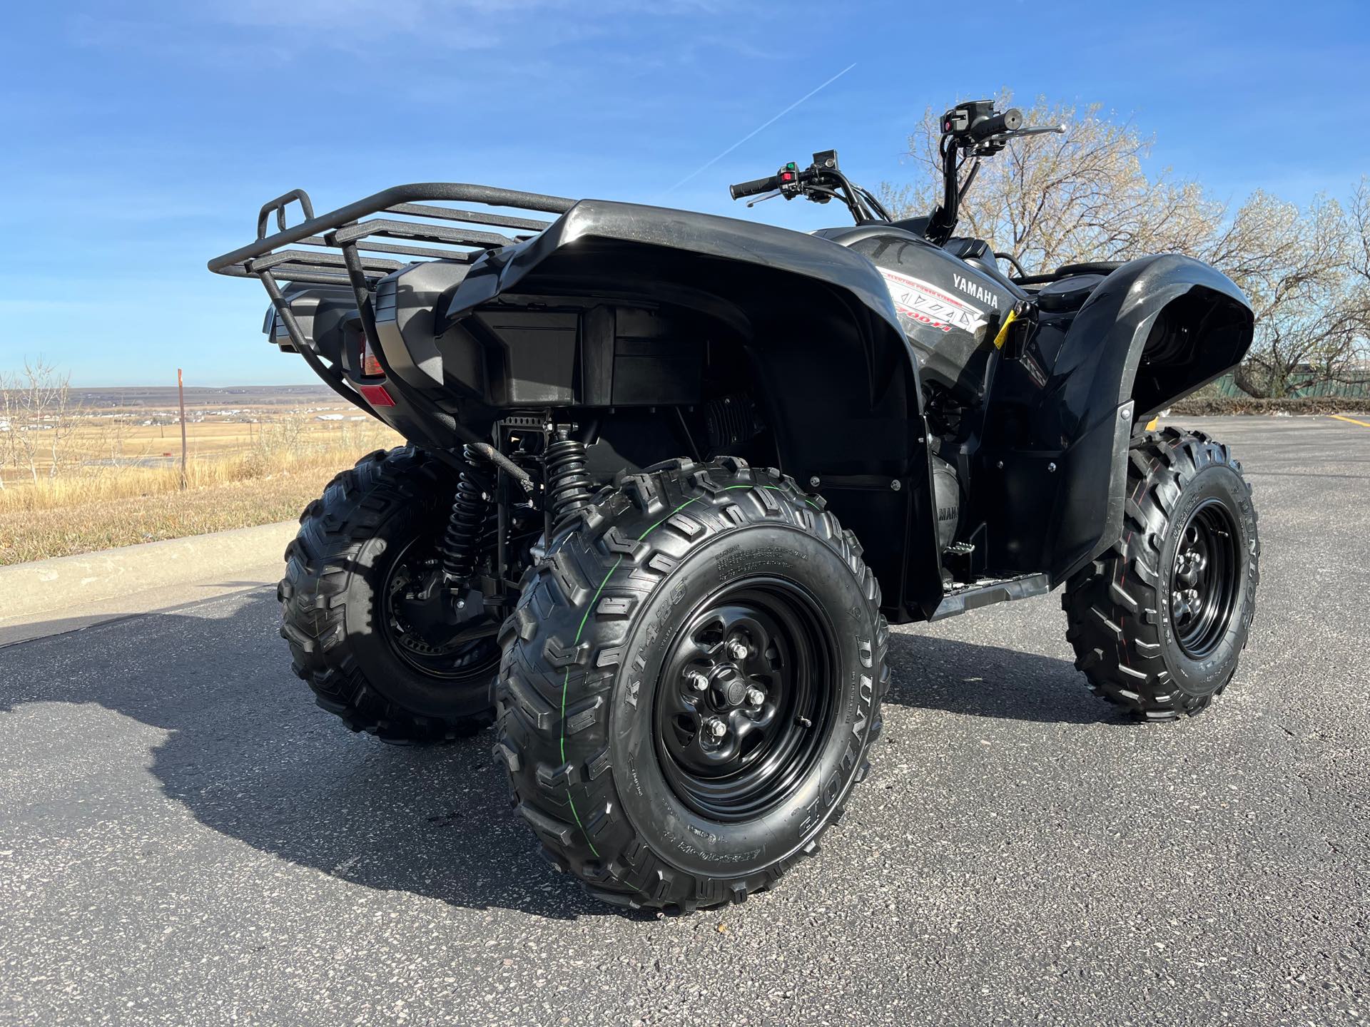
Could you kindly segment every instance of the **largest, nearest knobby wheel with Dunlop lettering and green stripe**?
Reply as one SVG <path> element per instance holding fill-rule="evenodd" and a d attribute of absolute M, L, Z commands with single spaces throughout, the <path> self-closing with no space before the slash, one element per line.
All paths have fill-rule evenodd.
<path fill-rule="evenodd" d="M 555 867 L 608 902 L 688 912 L 740 902 L 817 852 L 866 776 L 889 685 L 860 552 L 822 498 L 732 457 L 621 475 L 555 533 L 501 635 L 495 746 Z M 747 681 L 762 705 L 733 694 L 721 639 L 734 629 L 754 642 L 736 667 L 760 667 Z M 714 719 L 736 739 L 699 737 L 696 752 L 688 723 L 659 731 L 680 727 L 660 705 L 684 694 L 680 653 L 718 657 L 718 690 L 695 701 L 726 707 Z M 703 776 L 689 753 L 736 771 Z"/>

